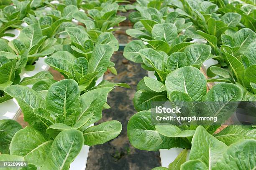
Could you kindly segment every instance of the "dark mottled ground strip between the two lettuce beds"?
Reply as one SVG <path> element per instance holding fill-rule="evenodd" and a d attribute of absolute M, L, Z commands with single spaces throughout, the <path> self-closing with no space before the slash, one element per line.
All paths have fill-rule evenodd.
<path fill-rule="evenodd" d="M 131 37 L 125 35 L 127 26 L 120 27 L 115 33 L 119 43 L 128 43 Z M 136 92 L 136 85 L 147 75 L 140 64 L 128 61 L 123 57 L 123 51 L 115 52 L 112 57 L 118 75 L 107 73 L 104 80 L 111 82 L 125 82 L 131 89 L 116 87 L 108 95 L 110 109 L 103 110 L 102 120 L 118 120 L 122 123 L 122 132 L 108 143 L 90 147 L 86 170 L 151 170 L 161 166 L 159 152 L 148 152 L 134 148 L 127 137 L 127 123 L 132 115 L 136 113 L 133 106 L 133 96 Z M 98 123 L 100 123 L 98 122 Z M 98 124 L 97 123 L 97 124 Z"/>

